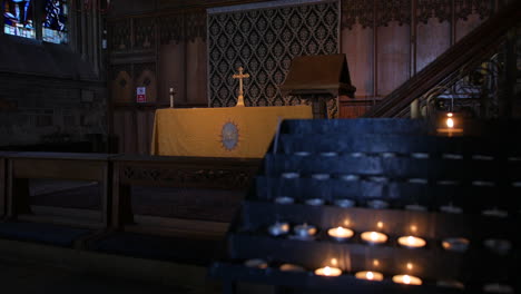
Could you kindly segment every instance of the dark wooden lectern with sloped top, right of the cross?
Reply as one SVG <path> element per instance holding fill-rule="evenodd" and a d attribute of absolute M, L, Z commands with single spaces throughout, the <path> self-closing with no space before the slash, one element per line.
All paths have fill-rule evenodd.
<path fill-rule="evenodd" d="M 354 98 L 356 88 L 351 85 L 345 55 L 321 55 L 293 59 L 281 91 L 309 99 L 313 118 L 327 118 L 327 100 L 341 95 Z"/>

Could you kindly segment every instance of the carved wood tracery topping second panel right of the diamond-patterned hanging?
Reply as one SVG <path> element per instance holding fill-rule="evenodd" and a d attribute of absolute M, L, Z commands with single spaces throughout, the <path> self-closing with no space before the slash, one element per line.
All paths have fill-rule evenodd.
<path fill-rule="evenodd" d="M 375 0 L 376 26 L 387 27 L 397 21 L 400 26 L 411 23 L 411 0 Z"/>

